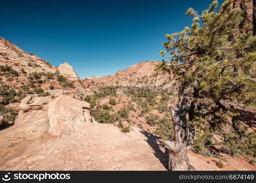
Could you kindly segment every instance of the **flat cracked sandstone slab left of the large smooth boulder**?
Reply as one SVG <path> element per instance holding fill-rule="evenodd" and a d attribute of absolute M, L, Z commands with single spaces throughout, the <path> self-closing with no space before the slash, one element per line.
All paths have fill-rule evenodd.
<path fill-rule="evenodd" d="M 21 100 L 19 108 L 22 112 L 29 112 L 37 109 L 48 111 L 47 105 L 52 99 L 47 97 L 37 97 L 37 95 L 28 95 Z"/>

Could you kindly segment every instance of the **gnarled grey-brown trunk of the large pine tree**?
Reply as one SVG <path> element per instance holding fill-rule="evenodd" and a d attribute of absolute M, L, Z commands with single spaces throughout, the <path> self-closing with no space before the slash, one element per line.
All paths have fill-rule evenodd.
<path fill-rule="evenodd" d="M 167 141 L 169 151 L 169 170 L 194 170 L 189 164 L 187 151 L 194 140 L 194 125 L 187 123 L 188 113 L 194 96 L 192 88 L 184 91 L 183 86 L 179 89 L 179 101 L 174 107 L 170 106 L 171 118 L 174 124 L 174 141 Z"/>

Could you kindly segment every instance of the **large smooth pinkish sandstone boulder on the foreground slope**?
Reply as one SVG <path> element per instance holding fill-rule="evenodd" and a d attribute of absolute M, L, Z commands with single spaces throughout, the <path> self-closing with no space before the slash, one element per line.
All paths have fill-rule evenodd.
<path fill-rule="evenodd" d="M 51 137 L 62 137 L 63 134 L 71 134 L 78 129 L 83 122 L 92 122 L 89 115 L 90 104 L 85 101 L 60 95 L 49 103 L 48 117 Z"/>

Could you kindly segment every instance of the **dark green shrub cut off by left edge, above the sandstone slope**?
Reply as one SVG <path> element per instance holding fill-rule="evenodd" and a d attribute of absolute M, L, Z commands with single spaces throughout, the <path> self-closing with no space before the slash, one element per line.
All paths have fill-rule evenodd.
<path fill-rule="evenodd" d="M 14 89 L 10 88 L 10 86 L 5 85 L 5 84 L 0 86 L 0 97 L 3 100 L 10 102 L 10 103 L 16 102 L 17 101 L 17 99 L 15 98 L 16 95 L 17 95 L 16 91 Z"/>

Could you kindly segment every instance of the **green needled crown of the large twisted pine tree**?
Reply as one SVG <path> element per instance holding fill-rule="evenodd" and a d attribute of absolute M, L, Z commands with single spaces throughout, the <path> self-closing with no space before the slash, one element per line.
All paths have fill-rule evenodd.
<path fill-rule="evenodd" d="M 170 68 L 185 88 L 197 88 L 213 101 L 235 98 L 256 106 L 256 37 L 248 31 L 251 24 L 239 28 L 242 10 L 230 10 L 231 3 L 225 1 L 214 12 L 214 1 L 201 15 L 189 8 L 186 15 L 194 16 L 191 29 L 166 35 L 166 51 L 160 54 L 169 52 L 170 64 L 164 61 L 158 69 Z"/>

